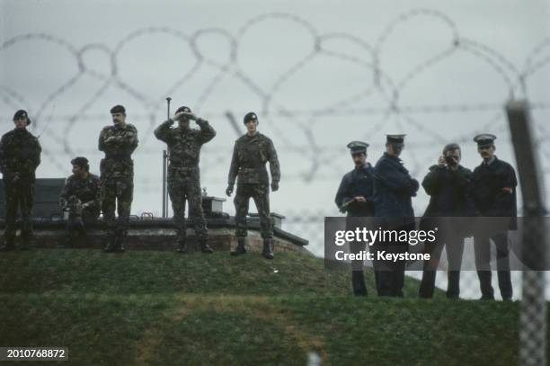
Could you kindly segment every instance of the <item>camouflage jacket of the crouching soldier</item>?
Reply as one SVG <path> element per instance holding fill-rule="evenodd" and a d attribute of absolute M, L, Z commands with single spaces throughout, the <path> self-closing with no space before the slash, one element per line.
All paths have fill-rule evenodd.
<path fill-rule="evenodd" d="M 69 198 L 75 196 L 83 204 L 89 203 L 92 210 L 100 210 L 100 179 L 99 176 L 88 174 L 86 179 L 81 179 L 78 175 L 71 175 L 65 180 L 63 191 L 59 195 L 59 205 L 63 208 L 67 206 Z"/>

